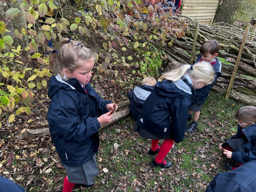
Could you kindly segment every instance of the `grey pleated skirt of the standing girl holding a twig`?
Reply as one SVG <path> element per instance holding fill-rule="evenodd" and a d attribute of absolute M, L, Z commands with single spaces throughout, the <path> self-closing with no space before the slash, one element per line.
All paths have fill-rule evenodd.
<path fill-rule="evenodd" d="M 70 183 L 85 183 L 91 185 L 93 184 L 94 177 L 99 174 L 95 155 L 81 166 L 72 167 L 63 164 L 61 161 L 60 163 L 64 166 Z"/>

